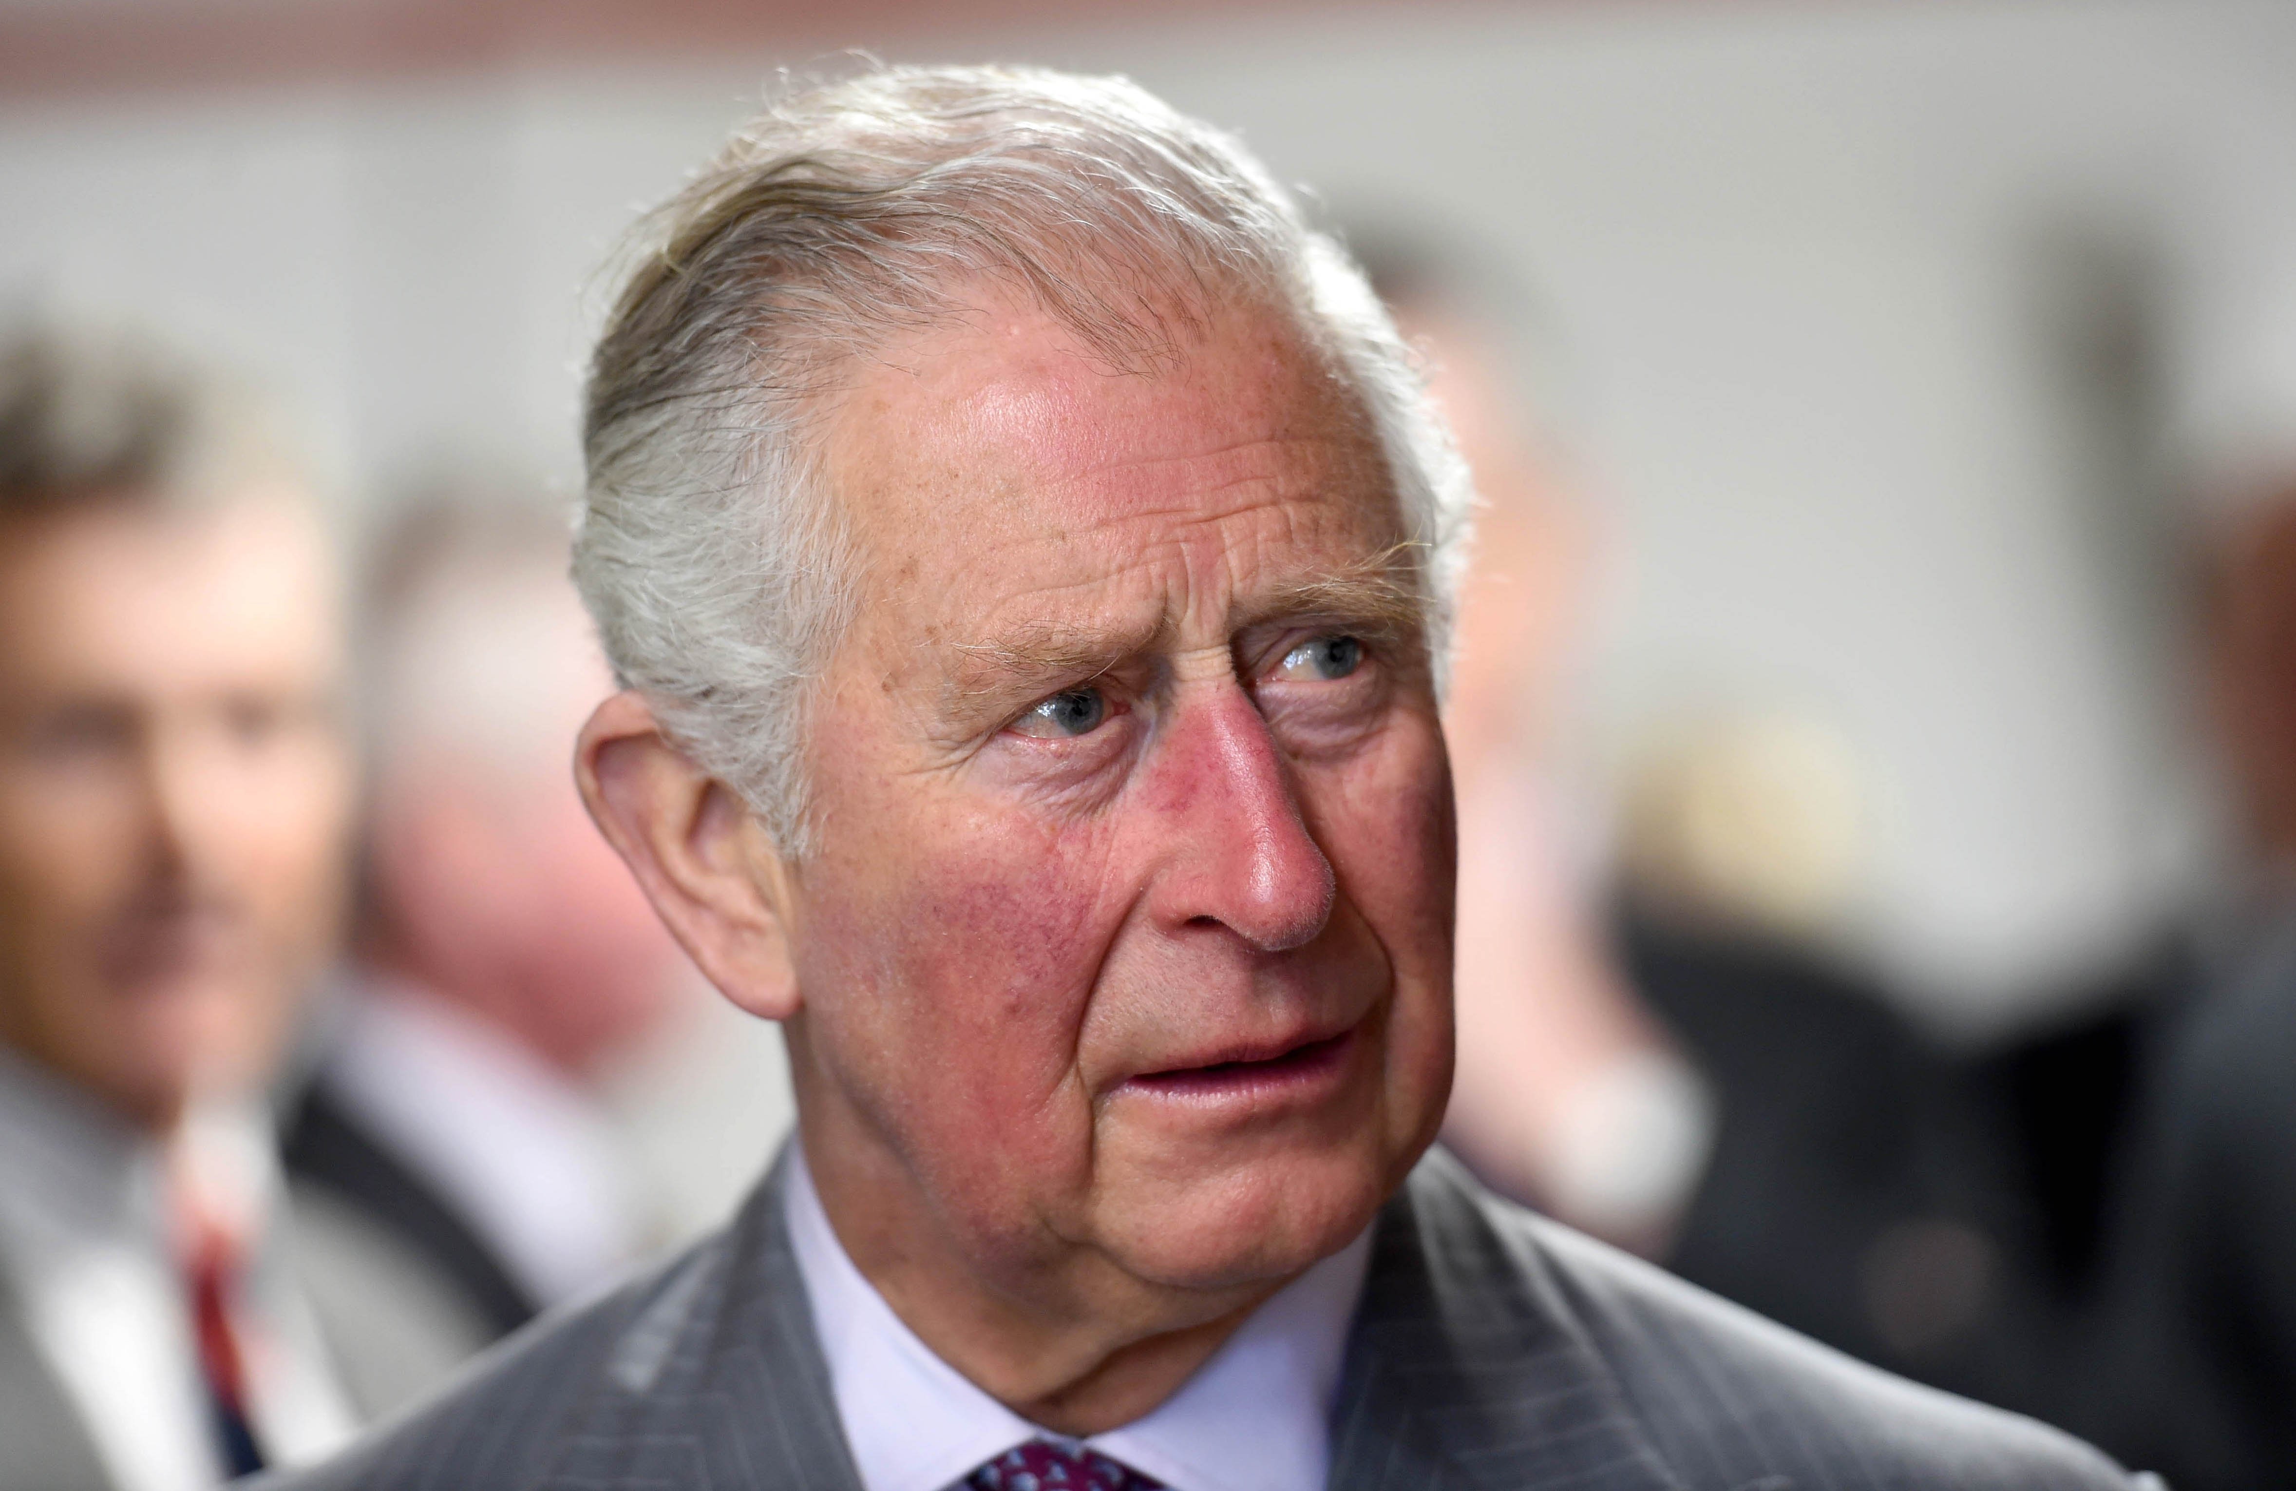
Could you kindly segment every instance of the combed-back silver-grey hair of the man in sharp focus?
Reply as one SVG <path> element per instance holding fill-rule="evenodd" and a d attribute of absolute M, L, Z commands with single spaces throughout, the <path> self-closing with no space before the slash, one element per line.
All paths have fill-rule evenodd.
<path fill-rule="evenodd" d="M 804 708 L 856 590 L 808 407 L 980 276 L 1127 368 L 1224 299 L 1286 310 L 1375 425 L 1442 673 L 1469 480 L 1339 244 L 1123 78 L 877 69 L 771 103 L 643 223 L 588 388 L 574 579 L 622 685 L 785 855 L 810 850 Z"/>

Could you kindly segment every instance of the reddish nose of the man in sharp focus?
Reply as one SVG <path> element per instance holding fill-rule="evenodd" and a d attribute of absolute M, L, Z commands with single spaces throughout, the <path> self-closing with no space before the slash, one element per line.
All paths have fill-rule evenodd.
<path fill-rule="evenodd" d="M 1224 926 L 1258 951 L 1313 942 L 1332 917 L 1332 862 L 1300 816 L 1293 772 L 1235 685 L 1182 703 L 1157 744 L 1148 793 L 1164 871 L 1164 926 Z"/>

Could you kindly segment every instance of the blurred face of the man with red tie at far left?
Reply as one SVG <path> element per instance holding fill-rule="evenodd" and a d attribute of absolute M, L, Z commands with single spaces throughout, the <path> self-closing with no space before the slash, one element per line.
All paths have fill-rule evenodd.
<path fill-rule="evenodd" d="M 0 519 L 0 1038 L 149 1128 L 266 1075 L 342 903 L 340 669 L 287 501 Z"/>

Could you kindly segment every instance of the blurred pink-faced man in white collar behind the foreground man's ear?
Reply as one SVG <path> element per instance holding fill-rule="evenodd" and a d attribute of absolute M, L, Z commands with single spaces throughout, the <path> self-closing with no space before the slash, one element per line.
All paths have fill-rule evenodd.
<path fill-rule="evenodd" d="M 356 969 L 287 1146 L 496 1332 L 657 1241 L 595 1084 L 682 965 L 574 790 L 567 740 L 613 680 L 567 551 L 565 515 L 487 482 L 381 538 Z"/>

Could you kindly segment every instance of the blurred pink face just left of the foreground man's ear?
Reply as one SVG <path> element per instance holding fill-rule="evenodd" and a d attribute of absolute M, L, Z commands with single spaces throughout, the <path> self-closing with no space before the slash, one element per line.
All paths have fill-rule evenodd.
<path fill-rule="evenodd" d="M 436 636 L 395 659 L 409 678 L 386 694 L 416 724 L 379 747 L 367 822 L 381 953 L 432 997 L 597 1075 L 691 995 L 567 772 L 567 740 L 613 673 L 563 558 L 455 577 L 409 604 Z"/>

